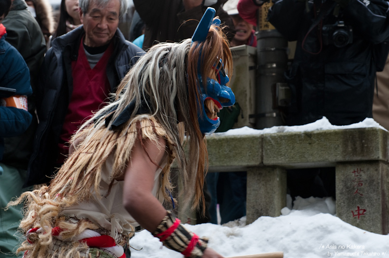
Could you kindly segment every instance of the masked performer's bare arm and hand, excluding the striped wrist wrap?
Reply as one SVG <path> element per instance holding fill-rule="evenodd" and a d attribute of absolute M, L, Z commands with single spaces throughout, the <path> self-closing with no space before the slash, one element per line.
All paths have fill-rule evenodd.
<path fill-rule="evenodd" d="M 152 194 L 155 172 L 165 155 L 166 140 L 158 139 L 158 143 L 147 139 L 135 143 L 131 160 L 127 164 L 124 175 L 124 207 L 131 216 L 145 229 L 154 232 L 166 216 L 166 210 Z M 147 153 L 146 153 L 147 152 Z M 150 161 L 150 158 L 154 161 Z M 213 249 L 207 248 L 203 258 L 223 258 Z"/>

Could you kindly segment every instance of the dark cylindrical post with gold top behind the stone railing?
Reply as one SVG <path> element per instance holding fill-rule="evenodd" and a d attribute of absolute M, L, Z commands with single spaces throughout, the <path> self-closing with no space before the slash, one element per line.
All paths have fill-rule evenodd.
<path fill-rule="evenodd" d="M 257 32 L 256 129 L 283 125 L 280 107 L 287 105 L 284 71 L 288 56 L 286 39 L 267 21 L 272 2 L 259 8 Z"/>

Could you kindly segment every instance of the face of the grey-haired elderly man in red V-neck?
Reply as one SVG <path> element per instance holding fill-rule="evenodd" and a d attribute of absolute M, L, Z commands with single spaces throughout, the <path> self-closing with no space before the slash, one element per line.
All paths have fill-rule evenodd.
<path fill-rule="evenodd" d="M 106 6 L 90 1 L 88 12 L 84 14 L 80 11 L 86 32 L 84 44 L 92 48 L 108 44 L 118 29 L 119 11 L 119 0 L 110 0 Z"/>

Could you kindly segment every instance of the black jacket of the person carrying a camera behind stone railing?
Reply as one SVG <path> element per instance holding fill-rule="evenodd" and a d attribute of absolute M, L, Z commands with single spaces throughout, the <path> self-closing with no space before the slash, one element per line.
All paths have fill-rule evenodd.
<path fill-rule="evenodd" d="M 336 3 L 327 0 L 321 10 L 327 8 L 324 5 Z M 270 23 L 288 41 L 297 40 L 292 66 L 285 74 L 292 90 L 287 125 L 307 124 L 323 116 L 334 125 L 347 125 L 371 117 L 376 73 L 373 51 L 375 44 L 389 40 L 388 2 L 349 0 L 338 16 L 334 16 L 337 7 L 331 7 L 322 19 L 314 16 L 319 7 L 313 1 L 308 1 L 308 7 L 307 12 L 305 1 L 280 0 L 268 13 Z M 320 22 L 312 28 L 315 20 Z M 344 47 L 324 44 L 328 37 L 322 28 L 342 21 L 352 28 L 352 43 Z M 341 28 L 345 27 L 332 26 L 332 32 Z"/>

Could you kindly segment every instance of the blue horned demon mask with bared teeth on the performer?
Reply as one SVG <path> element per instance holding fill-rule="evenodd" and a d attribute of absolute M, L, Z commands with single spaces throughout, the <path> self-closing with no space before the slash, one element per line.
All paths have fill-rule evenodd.
<path fill-rule="evenodd" d="M 215 19 L 215 9 L 208 7 L 203 17 L 201 18 L 195 33 L 192 36 L 192 43 L 195 41 L 205 41 L 211 24 L 219 25 L 220 20 Z M 213 23 L 212 23 L 213 20 Z M 199 60 L 197 70 L 200 71 L 201 60 Z M 203 80 L 200 73 L 198 73 L 198 82 L 201 90 L 200 105 L 202 106 L 202 112 L 198 111 L 198 122 L 202 133 L 212 133 L 220 125 L 220 118 L 210 115 L 213 110 L 210 111 L 210 106 L 217 107 L 216 110 L 221 110 L 223 107 L 232 106 L 235 103 L 235 95 L 230 87 L 226 84 L 230 81 L 226 72 L 224 71 L 223 61 L 220 59 L 212 67 L 215 70 L 216 80 L 207 78 Z M 204 84 L 206 87 L 204 87 Z M 213 108 L 212 108 L 213 109 Z"/>

